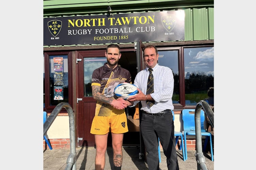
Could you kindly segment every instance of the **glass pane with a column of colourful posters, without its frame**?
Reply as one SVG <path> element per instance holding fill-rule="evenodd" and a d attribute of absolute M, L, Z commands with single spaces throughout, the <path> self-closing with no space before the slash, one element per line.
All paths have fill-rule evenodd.
<path fill-rule="evenodd" d="M 68 103 L 67 55 L 50 55 L 50 105 Z"/>

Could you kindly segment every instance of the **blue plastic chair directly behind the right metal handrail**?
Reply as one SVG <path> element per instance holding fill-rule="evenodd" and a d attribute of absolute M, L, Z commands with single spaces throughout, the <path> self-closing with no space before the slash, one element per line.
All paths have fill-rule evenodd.
<path fill-rule="evenodd" d="M 185 156 L 186 160 L 188 159 L 187 155 L 187 135 L 195 135 L 195 109 L 183 109 L 182 110 L 182 120 L 183 120 L 183 135 L 184 135 L 184 146 L 185 146 Z M 201 121 L 201 135 L 206 136 L 204 149 L 206 149 L 208 139 L 210 138 L 210 152 L 211 152 L 211 161 L 213 161 L 213 152 L 212 152 L 212 137 L 210 132 L 206 132 L 204 129 L 204 120 L 205 113 L 201 110 L 200 121 Z"/>

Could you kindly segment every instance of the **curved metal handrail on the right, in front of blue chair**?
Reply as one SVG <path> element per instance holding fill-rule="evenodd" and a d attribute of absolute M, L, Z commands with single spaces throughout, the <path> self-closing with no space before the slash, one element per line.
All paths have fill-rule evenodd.
<path fill-rule="evenodd" d="M 200 114 L 201 109 L 204 109 L 206 116 L 209 118 L 212 128 L 214 128 L 214 113 L 210 108 L 209 104 L 201 100 L 196 104 L 195 108 L 195 138 L 196 138 L 196 161 L 197 161 L 197 170 L 207 170 L 205 157 L 202 151 L 202 136 L 201 136 L 201 121 Z"/>

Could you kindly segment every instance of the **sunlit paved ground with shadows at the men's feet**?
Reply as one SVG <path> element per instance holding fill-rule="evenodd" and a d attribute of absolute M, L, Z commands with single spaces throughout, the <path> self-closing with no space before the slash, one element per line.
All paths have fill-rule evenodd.
<path fill-rule="evenodd" d="M 95 148 L 94 147 L 79 147 L 76 148 L 77 170 L 94 170 Z M 53 149 L 44 151 L 44 170 L 64 170 L 66 167 L 67 156 L 70 149 Z M 147 170 L 146 163 L 139 159 L 139 147 L 124 147 L 123 148 L 123 165 L 122 170 Z M 197 163 L 195 159 L 195 151 L 188 151 L 188 160 L 183 161 L 182 152 L 177 150 L 178 163 L 180 170 L 197 170 Z M 111 170 L 112 163 L 112 148 L 108 148 L 106 152 L 105 170 Z M 214 162 L 210 159 L 210 154 L 204 154 L 206 160 L 206 167 L 208 170 L 214 170 Z M 167 170 L 166 158 L 161 150 L 161 170 Z"/>

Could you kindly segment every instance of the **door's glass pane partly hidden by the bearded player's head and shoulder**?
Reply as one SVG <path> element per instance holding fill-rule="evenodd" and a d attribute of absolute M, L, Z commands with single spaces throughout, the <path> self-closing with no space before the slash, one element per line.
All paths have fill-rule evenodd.
<path fill-rule="evenodd" d="M 84 57 L 84 97 L 92 97 L 92 74 L 96 68 L 99 68 L 107 62 L 106 57 Z"/>

